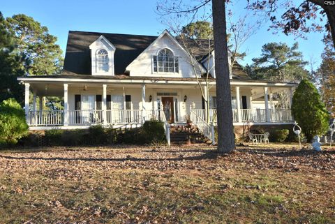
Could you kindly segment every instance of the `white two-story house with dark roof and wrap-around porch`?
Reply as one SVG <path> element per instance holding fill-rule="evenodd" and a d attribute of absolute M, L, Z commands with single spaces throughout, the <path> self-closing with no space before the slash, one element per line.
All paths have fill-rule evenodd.
<path fill-rule="evenodd" d="M 25 112 L 31 130 L 123 126 L 164 119 L 185 124 L 186 116 L 213 122 L 216 114 L 214 54 L 194 57 L 168 31 L 159 36 L 70 31 L 59 75 L 19 77 L 25 85 Z M 201 58 L 201 59 L 200 59 Z M 207 63 L 209 60 L 209 63 Z M 199 73 L 193 69 L 195 64 Z M 209 70 L 209 110 L 196 75 Z M 234 126 L 292 124 L 290 106 L 276 107 L 272 95 L 292 92 L 295 83 L 251 80 L 239 66 L 230 75 Z M 205 91 L 207 92 L 207 91 Z M 29 102 L 29 94 L 33 94 Z M 43 100 L 59 96 L 64 110 L 42 110 Z M 208 112 L 209 111 L 209 112 Z"/>

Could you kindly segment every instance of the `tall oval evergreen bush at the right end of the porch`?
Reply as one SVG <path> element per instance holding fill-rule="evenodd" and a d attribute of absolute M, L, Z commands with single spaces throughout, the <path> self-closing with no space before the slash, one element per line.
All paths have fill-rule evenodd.
<path fill-rule="evenodd" d="M 310 81 L 302 80 L 297 87 L 293 96 L 292 114 L 308 141 L 312 140 L 313 135 L 327 132 L 329 114 L 318 90 Z"/>

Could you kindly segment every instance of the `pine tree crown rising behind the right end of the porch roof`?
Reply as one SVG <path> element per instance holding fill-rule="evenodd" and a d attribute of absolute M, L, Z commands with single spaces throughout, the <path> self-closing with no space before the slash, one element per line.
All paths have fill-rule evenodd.
<path fill-rule="evenodd" d="M 304 69 L 306 64 L 298 43 L 292 47 L 285 43 L 267 43 L 263 45 L 260 57 L 246 66 L 246 72 L 255 80 L 299 82 L 308 78 L 309 73 Z"/>

